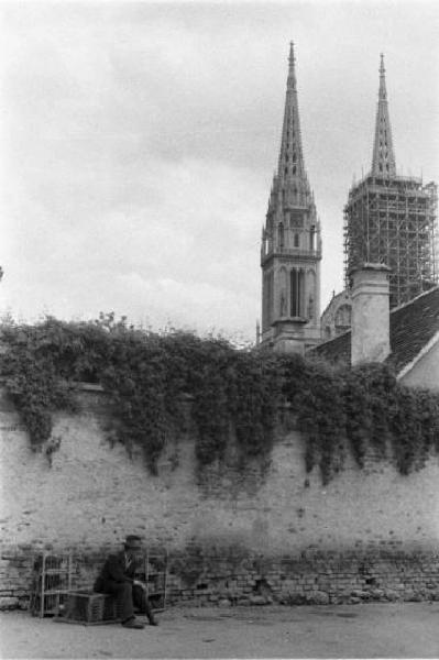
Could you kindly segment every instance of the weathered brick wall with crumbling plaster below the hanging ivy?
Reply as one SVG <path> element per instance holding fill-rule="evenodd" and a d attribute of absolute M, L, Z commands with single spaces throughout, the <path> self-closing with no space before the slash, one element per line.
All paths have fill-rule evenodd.
<path fill-rule="evenodd" d="M 327 486 L 307 475 L 304 441 L 281 433 L 265 473 L 230 461 L 198 483 L 190 433 L 168 447 L 158 476 L 106 440 L 103 397 L 61 415 L 52 457 L 32 452 L 19 418 L 0 402 L 0 606 L 24 603 L 32 554 L 44 547 L 78 560 L 88 586 L 125 534 L 171 553 L 171 601 L 259 598 L 337 602 L 436 597 L 439 465 L 409 476 L 370 455 Z"/>

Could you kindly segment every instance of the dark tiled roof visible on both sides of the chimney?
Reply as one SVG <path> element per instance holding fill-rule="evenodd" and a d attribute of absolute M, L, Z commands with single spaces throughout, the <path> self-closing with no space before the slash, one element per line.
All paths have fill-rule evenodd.
<path fill-rule="evenodd" d="M 396 373 L 413 362 L 439 332 L 439 286 L 391 311 L 391 354 L 386 362 Z M 351 361 L 351 331 L 326 341 L 314 352 L 331 362 Z"/>

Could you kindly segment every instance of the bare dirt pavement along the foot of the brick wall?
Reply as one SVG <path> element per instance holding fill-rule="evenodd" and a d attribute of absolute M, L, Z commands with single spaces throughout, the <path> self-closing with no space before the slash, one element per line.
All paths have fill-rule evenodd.
<path fill-rule="evenodd" d="M 439 658 L 439 603 L 169 608 L 158 627 L 0 615 L 1 658 Z"/>

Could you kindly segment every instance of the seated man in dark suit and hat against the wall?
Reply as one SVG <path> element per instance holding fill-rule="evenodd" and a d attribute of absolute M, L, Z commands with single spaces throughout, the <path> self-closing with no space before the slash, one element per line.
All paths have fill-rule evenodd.
<path fill-rule="evenodd" d="M 124 550 L 118 554 L 110 554 L 94 586 L 96 592 L 117 596 L 118 612 L 125 628 L 144 628 L 134 616 L 134 605 L 142 614 L 146 614 L 152 626 L 157 625 L 147 601 L 146 585 L 135 580 L 135 569 L 139 568 L 142 558 L 141 538 L 128 536 Z"/>

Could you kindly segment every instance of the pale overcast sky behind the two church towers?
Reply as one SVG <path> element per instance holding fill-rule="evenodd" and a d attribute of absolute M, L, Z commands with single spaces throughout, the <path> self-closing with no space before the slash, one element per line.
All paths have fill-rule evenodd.
<path fill-rule="evenodd" d="M 254 339 L 290 40 L 323 309 L 381 52 L 398 173 L 439 180 L 437 7 L 2 3 L 0 314 Z"/>

